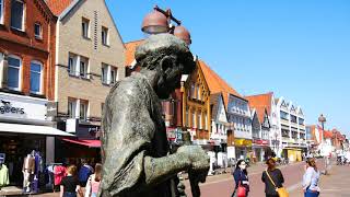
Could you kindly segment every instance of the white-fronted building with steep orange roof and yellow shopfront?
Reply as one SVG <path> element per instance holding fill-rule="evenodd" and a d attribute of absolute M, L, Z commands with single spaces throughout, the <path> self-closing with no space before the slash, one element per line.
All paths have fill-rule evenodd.
<path fill-rule="evenodd" d="M 221 93 L 228 113 L 229 126 L 233 130 L 234 147 L 229 146 L 228 158 L 245 158 L 252 151 L 252 124 L 248 101 L 220 78 L 208 65 L 200 61 L 211 94 Z M 232 124 L 231 124 L 232 123 Z"/>

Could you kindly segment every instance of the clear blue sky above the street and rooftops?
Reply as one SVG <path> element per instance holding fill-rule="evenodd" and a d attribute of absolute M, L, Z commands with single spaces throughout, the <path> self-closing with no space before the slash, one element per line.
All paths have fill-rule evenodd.
<path fill-rule="evenodd" d="M 143 16 L 171 8 L 191 50 L 243 95 L 272 91 L 301 105 L 307 124 L 350 135 L 350 1 L 106 0 L 124 42 Z"/>

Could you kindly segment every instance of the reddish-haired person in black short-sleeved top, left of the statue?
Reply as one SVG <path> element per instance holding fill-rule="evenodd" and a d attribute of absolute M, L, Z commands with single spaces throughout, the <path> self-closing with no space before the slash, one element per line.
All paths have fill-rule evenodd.
<path fill-rule="evenodd" d="M 77 197 L 81 196 L 79 181 L 77 178 L 77 166 L 70 165 L 67 169 L 67 176 L 60 183 L 60 197 Z"/>

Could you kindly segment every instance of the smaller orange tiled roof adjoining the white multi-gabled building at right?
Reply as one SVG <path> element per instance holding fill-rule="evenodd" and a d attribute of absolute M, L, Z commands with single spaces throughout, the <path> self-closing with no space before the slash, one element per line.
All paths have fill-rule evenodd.
<path fill-rule="evenodd" d="M 268 92 L 266 94 L 245 96 L 249 102 L 249 107 L 255 108 L 260 123 L 264 121 L 265 109 L 268 114 L 271 113 L 271 102 L 273 92 Z"/>

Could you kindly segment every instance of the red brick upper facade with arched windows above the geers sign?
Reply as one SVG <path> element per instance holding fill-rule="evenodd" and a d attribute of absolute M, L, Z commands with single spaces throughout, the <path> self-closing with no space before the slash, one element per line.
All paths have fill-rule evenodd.
<path fill-rule="evenodd" d="M 56 21 L 44 0 L 0 0 L 1 92 L 54 100 Z"/>

